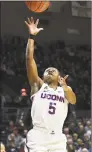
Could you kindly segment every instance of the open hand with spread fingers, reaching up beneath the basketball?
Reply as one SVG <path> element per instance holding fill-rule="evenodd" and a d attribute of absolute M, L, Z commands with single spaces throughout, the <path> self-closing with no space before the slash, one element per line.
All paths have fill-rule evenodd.
<path fill-rule="evenodd" d="M 34 23 L 33 17 L 31 17 L 31 19 L 28 18 L 28 21 L 25 21 L 25 24 L 28 28 L 29 34 L 36 35 L 41 30 L 43 30 L 43 28 L 37 27 L 38 23 L 39 23 L 39 19 L 37 19 L 36 22 Z"/>

